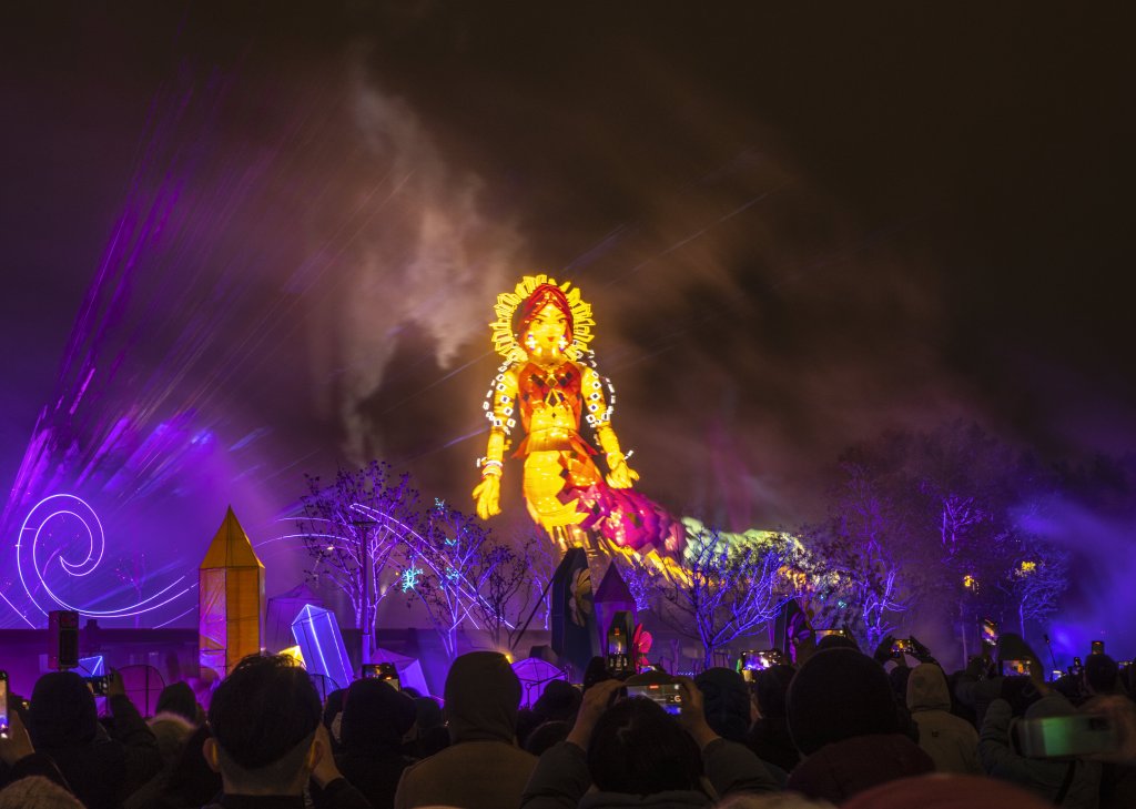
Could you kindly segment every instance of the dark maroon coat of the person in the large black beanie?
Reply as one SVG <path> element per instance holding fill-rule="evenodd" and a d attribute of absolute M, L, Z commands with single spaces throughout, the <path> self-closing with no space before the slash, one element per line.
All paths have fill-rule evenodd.
<path fill-rule="evenodd" d="M 930 757 L 903 734 L 876 733 L 820 748 L 790 773 L 785 789 L 840 804 L 872 786 L 934 769 Z"/>

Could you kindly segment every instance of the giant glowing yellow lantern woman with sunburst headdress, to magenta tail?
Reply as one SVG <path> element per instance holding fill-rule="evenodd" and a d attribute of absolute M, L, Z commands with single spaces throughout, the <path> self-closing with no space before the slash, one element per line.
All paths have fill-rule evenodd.
<path fill-rule="evenodd" d="M 474 490 L 477 514 L 488 519 L 501 512 L 504 452 L 519 428 L 524 440 L 515 456 L 525 461 L 528 512 L 561 549 L 610 543 L 612 550 L 678 554 L 683 526 L 632 490 L 638 475 L 611 426 L 615 391 L 587 348 L 592 307 L 569 287 L 544 275 L 526 276 L 515 292 L 498 295 L 491 326 L 504 362 L 485 399 L 491 426 L 482 482 Z M 583 424 L 603 452 L 607 475 Z"/>

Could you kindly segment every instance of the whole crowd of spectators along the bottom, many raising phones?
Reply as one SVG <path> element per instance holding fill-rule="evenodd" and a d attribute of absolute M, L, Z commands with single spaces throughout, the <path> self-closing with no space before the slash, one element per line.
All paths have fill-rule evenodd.
<path fill-rule="evenodd" d="M 1130 670 L 1103 653 L 1050 682 L 1003 635 L 947 673 L 911 639 L 872 656 L 846 636 L 795 665 L 691 679 L 652 669 L 553 681 L 532 708 L 509 661 L 453 661 L 441 703 L 379 679 L 321 701 L 286 657 L 242 660 L 208 711 L 185 684 L 144 719 L 111 676 L 107 716 L 82 677 L 9 699 L 0 809 L 685 809 L 1136 807 Z M 1030 674 L 1002 676 L 1004 660 Z M 677 690 L 667 710 L 634 686 Z M 632 695 L 628 695 L 632 694 Z M 1093 717 L 1112 740 L 1038 754 L 1030 720 Z M 1025 724 L 1024 724 L 1025 723 Z"/>

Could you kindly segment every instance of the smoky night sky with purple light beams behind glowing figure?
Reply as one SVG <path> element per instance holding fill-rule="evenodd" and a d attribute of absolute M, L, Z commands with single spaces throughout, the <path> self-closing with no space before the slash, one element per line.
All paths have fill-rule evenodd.
<path fill-rule="evenodd" d="M 272 533 L 304 472 L 371 457 L 468 503 L 485 324 L 534 272 L 593 303 L 617 432 L 676 511 L 796 524 L 841 449 L 957 417 L 1050 458 L 1136 449 L 1130 19 L 24 6 L 0 34 L 5 481 L 82 376 L 107 255 L 125 297 L 92 310 L 93 382 L 6 547 L 72 490 L 192 568 L 227 502 Z M 149 233 L 133 258 L 124 232 Z"/>

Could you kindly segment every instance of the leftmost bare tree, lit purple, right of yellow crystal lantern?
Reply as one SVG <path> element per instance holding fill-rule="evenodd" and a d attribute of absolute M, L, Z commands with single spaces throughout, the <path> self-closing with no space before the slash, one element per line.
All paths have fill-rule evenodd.
<path fill-rule="evenodd" d="M 374 633 L 378 602 L 390 592 L 393 564 L 416 522 L 418 492 L 410 476 L 395 477 L 386 464 L 340 469 L 325 486 L 307 475 L 296 529 L 315 559 L 309 577 L 342 590 L 354 610 L 356 628 Z M 369 650 L 367 650 L 369 651 Z"/>

